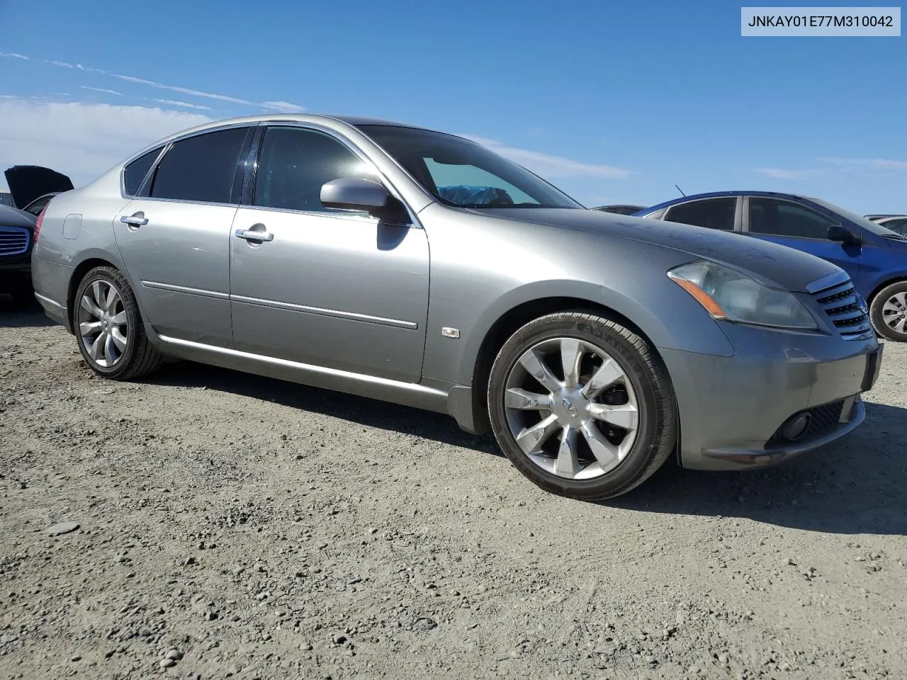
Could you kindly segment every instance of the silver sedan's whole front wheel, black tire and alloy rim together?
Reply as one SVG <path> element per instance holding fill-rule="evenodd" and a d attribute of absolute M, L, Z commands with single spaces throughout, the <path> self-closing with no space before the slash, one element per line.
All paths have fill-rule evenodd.
<path fill-rule="evenodd" d="M 488 413 L 517 470 L 578 500 L 631 491 L 678 439 L 660 357 L 622 325 L 579 311 L 541 316 L 504 343 L 489 377 Z"/>

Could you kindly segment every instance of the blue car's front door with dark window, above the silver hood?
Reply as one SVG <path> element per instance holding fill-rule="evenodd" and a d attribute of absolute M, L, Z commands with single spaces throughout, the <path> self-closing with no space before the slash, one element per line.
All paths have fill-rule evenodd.
<path fill-rule="evenodd" d="M 830 240 L 828 228 L 836 224 L 833 219 L 792 200 L 763 196 L 746 200 L 745 228 L 750 236 L 822 257 L 857 281 L 862 248 Z"/>

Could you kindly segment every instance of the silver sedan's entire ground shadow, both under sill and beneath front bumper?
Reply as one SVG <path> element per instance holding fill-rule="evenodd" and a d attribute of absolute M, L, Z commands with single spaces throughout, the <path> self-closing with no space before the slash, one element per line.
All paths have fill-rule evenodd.
<path fill-rule="evenodd" d="M 444 413 L 190 362 L 168 364 L 148 382 L 204 386 L 502 456 L 491 438 L 461 431 Z M 672 460 L 638 489 L 600 504 L 827 533 L 907 534 L 907 409 L 867 403 L 866 412 L 866 422 L 839 442 L 774 468 L 689 471 Z"/>

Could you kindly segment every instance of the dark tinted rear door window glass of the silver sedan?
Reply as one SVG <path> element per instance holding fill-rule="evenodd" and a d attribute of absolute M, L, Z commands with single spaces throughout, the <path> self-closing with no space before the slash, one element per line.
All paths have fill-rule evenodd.
<path fill-rule="evenodd" d="M 237 202 L 233 180 L 248 131 L 230 128 L 175 142 L 154 172 L 151 198 Z"/>

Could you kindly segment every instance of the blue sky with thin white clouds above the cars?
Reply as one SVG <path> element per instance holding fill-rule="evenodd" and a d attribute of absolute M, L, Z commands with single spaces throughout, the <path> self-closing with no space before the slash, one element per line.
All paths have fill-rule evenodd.
<path fill-rule="evenodd" d="M 0 0 L 3 168 L 81 184 L 204 118 L 304 109 L 481 138 L 590 206 L 676 182 L 907 211 L 907 37 L 743 38 L 727 2 L 85 5 Z"/>

